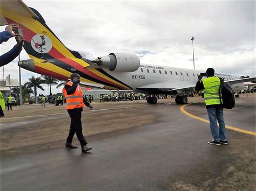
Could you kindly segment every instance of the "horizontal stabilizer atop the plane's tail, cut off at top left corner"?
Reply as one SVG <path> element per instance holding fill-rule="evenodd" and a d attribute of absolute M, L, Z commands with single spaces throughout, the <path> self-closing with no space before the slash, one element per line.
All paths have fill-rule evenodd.
<path fill-rule="evenodd" d="M 11 12 L 4 10 L 11 10 Z M 37 15 L 31 11 L 31 9 L 29 9 L 29 7 L 22 0 L 0 0 L 0 26 L 8 25 L 3 17 L 3 12 L 9 12 L 9 14 L 18 13 L 24 17 L 38 18 Z"/>

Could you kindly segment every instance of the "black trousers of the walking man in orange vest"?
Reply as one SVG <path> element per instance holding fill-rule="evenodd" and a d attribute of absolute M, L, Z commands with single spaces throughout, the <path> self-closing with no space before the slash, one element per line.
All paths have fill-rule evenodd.
<path fill-rule="evenodd" d="M 69 129 L 69 136 L 66 139 L 66 142 L 72 143 L 72 139 L 76 133 L 77 138 L 80 142 L 81 146 L 87 144 L 82 130 L 82 122 L 81 122 L 81 115 L 82 115 L 83 108 L 75 108 L 75 109 L 68 109 L 69 116 L 71 118 L 70 129 Z"/>

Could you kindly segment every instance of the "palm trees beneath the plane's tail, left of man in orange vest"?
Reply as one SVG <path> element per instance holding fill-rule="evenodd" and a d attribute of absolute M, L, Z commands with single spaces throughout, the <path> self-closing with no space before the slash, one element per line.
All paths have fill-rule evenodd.
<path fill-rule="evenodd" d="M 41 84 L 48 84 L 48 87 L 50 89 L 50 95 L 51 93 L 51 86 L 56 86 L 56 88 L 64 86 L 66 82 L 60 81 L 55 79 L 54 77 L 44 76 L 41 75 L 40 77 L 31 76 L 29 77 L 29 81 L 24 83 L 22 85 L 22 96 L 28 96 L 30 94 L 34 94 L 34 96 L 37 96 L 37 88 L 44 91 L 44 88 L 41 86 Z M 19 87 L 11 88 L 12 93 L 19 95 Z"/>

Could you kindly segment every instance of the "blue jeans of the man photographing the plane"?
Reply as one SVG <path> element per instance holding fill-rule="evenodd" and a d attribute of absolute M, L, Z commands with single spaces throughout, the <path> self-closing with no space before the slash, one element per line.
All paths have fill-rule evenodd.
<path fill-rule="evenodd" d="M 223 118 L 223 107 L 220 105 L 214 105 L 207 109 L 209 121 L 210 121 L 210 128 L 212 132 L 212 137 L 215 142 L 219 142 L 220 140 L 226 141 L 226 127 Z M 219 122 L 220 128 L 217 126 L 217 119 Z"/>

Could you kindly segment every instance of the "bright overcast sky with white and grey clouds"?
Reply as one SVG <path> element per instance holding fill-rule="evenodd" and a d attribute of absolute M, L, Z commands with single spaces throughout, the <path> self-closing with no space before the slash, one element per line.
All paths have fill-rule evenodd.
<path fill-rule="evenodd" d="M 111 52 L 137 54 L 140 63 L 255 75 L 255 1 L 29 1 L 68 48 L 87 59 Z M 4 30 L 0 27 L 0 31 Z M 0 45 L 1 54 L 16 44 Z M 21 60 L 29 59 L 26 52 Z M 18 58 L 4 76 L 18 80 Z M 21 69 L 22 84 L 39 74 Z M 0 68 L 3 79 L 3 67 Z M 49 94 L 48 86 L 38 94 Z M 52 88 L 52 93 L 62 88 Z"/>

